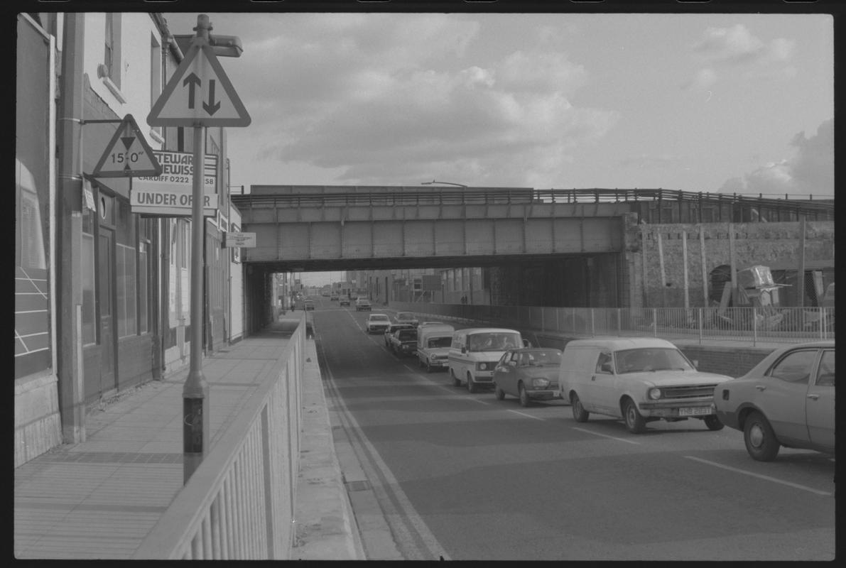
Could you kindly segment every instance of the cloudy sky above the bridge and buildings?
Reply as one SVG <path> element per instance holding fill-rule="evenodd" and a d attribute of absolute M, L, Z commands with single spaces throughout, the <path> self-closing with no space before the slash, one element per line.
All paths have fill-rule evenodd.
<path fill-rule="evenodd" d="M 827 14 L 207 14 L 233 185 L 834 193 Z"/>

